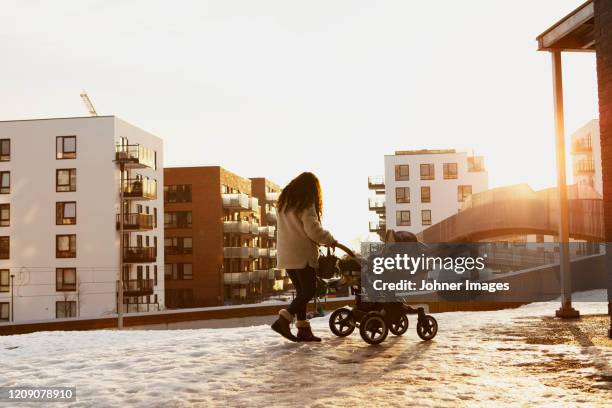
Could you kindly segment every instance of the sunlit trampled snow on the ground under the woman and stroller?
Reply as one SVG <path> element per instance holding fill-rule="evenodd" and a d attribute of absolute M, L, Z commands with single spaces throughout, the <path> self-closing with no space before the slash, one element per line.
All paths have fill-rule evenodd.
<path fill-rule="evenodd" d="M 436 314 L 430 342 L 420 341 L 410 316 L 408 332 L 380 346 L 357 331 L 335 337 L 327 318 L 313 320 L 321 344 L 290 343 L 267 326 L 0 337 L 0 385 L 73 385 L 72 405 L 83 407 L 608 404 L 609 344 L 521 338 L 523 327 L 533 330 L 556 308 Z M 601 314 L 606 305 L 578 308 Z"/>

